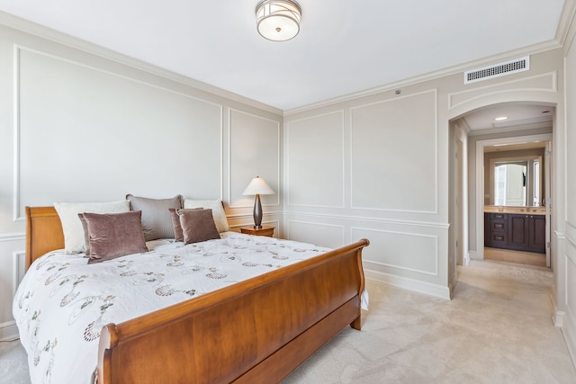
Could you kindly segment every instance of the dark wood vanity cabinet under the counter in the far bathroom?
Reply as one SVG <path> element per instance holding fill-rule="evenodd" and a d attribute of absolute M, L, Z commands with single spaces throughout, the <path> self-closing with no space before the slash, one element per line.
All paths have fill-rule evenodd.
<path fill-rule="evenodd" d="M 544 215 L 484 213 L 484 246 L 546 252 Z"/>

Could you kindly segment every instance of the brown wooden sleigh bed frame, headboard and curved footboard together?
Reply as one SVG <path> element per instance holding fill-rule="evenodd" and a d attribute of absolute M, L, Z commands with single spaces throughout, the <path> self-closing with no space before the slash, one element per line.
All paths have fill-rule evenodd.
<path fill-rule="evenodd" d="M 53 207 L 26 207 L 26 268 L 64 247 Z M 362 239 L 103 327 L 97 382 L 278 382 L 347 325 L 361 328 Z"/>

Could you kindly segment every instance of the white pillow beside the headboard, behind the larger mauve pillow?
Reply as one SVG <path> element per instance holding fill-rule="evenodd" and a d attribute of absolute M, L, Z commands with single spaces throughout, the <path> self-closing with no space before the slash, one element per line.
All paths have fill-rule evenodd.
<path fill-rule="evenodd" d="M 67 254 L 85 252 L 85 237 L 78 213 L 121 213 L 130 211 L 130 201 L 55 202 L 54 208 L 62 223 L 64 250 Z"/>

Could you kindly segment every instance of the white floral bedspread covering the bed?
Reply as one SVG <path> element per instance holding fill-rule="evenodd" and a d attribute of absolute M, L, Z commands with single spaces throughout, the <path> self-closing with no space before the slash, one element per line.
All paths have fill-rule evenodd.
<path fill-rule="evenodd" d="M 145 254 L 87 264 L 63 251 L 42 256 L 14 297 L 14 318 L 32 383 L 94 380 L 102 326 L 121 323 L 237 281 L 329 251 L 272 237 L 226 232 L 184 246 L 152 242 Z"/>

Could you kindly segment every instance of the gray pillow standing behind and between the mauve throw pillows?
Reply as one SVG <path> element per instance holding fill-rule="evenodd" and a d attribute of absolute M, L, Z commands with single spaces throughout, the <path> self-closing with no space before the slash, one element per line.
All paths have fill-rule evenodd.
<path fill-rule="evenodd" d="M 142 231 L 146 241 L 157 238 L 175 238 L 169 209 L 182 208 L 182 195 L 176 195 L 170 199 L 149 199 L 129 193 L 126 195 L 126 200 L 130 201 L 132 210 L 142 211 Z"/>

